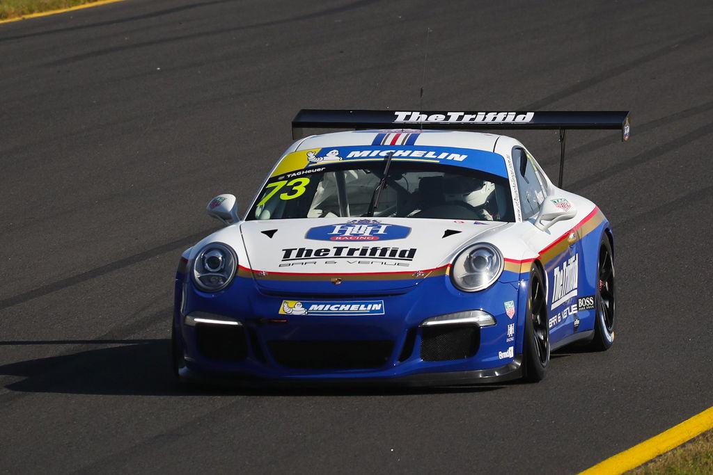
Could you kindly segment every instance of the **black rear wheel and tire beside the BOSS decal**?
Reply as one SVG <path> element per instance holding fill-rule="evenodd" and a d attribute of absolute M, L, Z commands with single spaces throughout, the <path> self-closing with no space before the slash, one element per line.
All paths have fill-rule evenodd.
<path fill-rule="evenodd" d="M 594 338 L 590 350 L 605 351 L 614 344 L 616 288 L 614 281 L 614 254 L 608 236 L 602 236 L 599 245 L 599 258 L 596 281 L 596 315 Z"/>

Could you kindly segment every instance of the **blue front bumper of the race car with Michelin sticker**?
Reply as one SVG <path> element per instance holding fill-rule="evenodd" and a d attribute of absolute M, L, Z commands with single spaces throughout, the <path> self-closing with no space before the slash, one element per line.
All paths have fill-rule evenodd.
<path fill-rule="evenodd" d="M 463 293 L 453 288 L 448 276 L 426 278 L 398 294 L 372 291 L 302 299 L 266 295 L 250 278 L 236 278 L 216 294 L 202 293 L 178 278 L 174 324 L 185 359 L 180 375 L 193 381 L 290 385 L 434 386 L 512 380 L 521 375 L 523 321 L 519 311 L 507 315 L 504 303 L 514 302 L 519 310 L 522 295 L 517 281 Z M 294 314 L 302 308 L 292 314 L 282 311 L 285 303 L 294 309 L 297 301 L 304 302 L 306 314 Z M 319 313 L 329 303 L 347 308 L 345 314 Z M 349 314 L 354 308 L 358 314 Z M 436 315 L 475 309 L 493 315 L 496 324 L 419 326 Z M 239 329 L 213 325 L 210 332 L 217 339 L 206 340 L 200 333 L 206 333 L 210 323 L 202 330 L 195 323 L 185 324 L 185 315 L 196 312 L 222 315 L 238 322 Z M 234 340 L 220 340 L 230 332 Z"/>

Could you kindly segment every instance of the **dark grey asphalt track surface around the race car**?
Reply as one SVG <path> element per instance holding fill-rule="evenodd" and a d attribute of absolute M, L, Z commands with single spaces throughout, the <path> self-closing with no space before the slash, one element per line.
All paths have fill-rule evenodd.
<path fill-rule="evenodd" d="M 0 470 L 568 474 L 713 405 L 710 1 L 126 0 L 0 24 Z M 182 392 L 180 252 L 300 108 L 631 110 L 568 134 L 617 341 L 537 385 Z M 517 132 L 557 176 L 556 132 Z"/>

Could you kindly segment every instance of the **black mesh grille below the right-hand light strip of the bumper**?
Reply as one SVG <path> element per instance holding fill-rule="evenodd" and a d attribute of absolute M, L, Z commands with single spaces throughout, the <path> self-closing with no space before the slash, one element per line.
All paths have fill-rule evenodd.
<path fill-rule="evenodd" d="M 478 351 L 480 331 L 473 325 L 424 327 L 421 337 L 421 360 L 461 360 Z"/>

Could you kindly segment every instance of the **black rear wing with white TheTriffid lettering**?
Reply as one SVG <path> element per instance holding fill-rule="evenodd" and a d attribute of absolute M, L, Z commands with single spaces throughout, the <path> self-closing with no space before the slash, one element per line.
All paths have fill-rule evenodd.
<path fill-rule="evenodd" d="M 321 110 L 302 109 L 292 120 L 292 139 L 304 129 L 419 128 L 428 130 L 559 130 L 560 179 L 565 164 L 565 131 L 583 129 L 621 130 L 629 140 L 629 111 L 466 112 L 414 110 Z"/>

